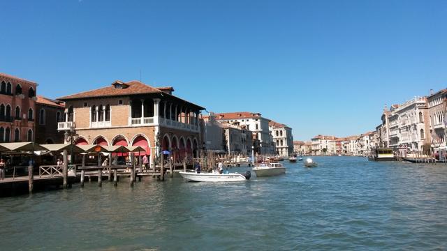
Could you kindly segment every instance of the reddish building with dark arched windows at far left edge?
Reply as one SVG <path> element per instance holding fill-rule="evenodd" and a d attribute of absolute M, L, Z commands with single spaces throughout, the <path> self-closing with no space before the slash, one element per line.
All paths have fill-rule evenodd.
<path fill-rule="evenodd" d="M 0 73 L 0 142 L 35 138 L 37 84 Z"/>

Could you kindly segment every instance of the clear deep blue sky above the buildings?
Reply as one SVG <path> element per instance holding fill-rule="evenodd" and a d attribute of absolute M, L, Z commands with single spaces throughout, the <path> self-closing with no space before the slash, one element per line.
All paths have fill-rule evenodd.
<path fill-rule="evenodd" d="M 0 72 L 57 98 L 141 78 L 295 140 L 374 130 L 447 87 L 447 1 L 6 1 Z M 206 114 L 206 112 L 204 112 Z"/>

